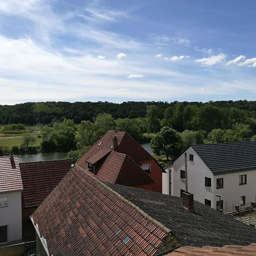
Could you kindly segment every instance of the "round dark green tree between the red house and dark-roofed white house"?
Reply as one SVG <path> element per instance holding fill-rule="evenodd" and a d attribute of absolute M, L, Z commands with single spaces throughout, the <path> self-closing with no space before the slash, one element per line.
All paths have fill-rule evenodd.
<path fill-rule="evenodd" d="M 167 160 L 169 156 L 175 158 L 181 152 L 181 138 L 174 129 L 164 126 L 155 138 L 152 138 L 150 146 L 154 154 L 160 156 L 165 155 Z"/>

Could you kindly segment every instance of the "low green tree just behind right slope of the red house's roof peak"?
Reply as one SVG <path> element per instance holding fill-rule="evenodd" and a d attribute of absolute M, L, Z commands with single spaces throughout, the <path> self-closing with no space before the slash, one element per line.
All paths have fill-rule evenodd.
<path fill-rule="evenodd" d="M 118 118 L 115 120 L 115 129 L 118 131 L 126 131 L 126 133 L 129 133 L 136 141 L 141 141 L 141 130 L 135 125 L 134 121 L 129 118 Z"/>

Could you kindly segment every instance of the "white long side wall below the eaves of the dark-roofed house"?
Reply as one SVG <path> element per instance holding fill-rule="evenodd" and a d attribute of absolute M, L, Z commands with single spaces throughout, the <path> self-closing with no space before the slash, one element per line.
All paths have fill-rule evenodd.
<path fill-rule="evenodd" d="M 239 185 L 239 176 L 247 175 L 247 184 Z M 245 196 L 245 203 L 255 202 L 256 197 L 256 170 L 232 172 L 229 174 L 214 176 L 214 184 L 216 179 L 223 178 L 223 188 L 216 189 L 216 193 L 223 200 L 223 208 L 230 208 L 233 205 L 240 205 L 241 196 Z M 215 185 L 216 187 L 216 185 Z"/>

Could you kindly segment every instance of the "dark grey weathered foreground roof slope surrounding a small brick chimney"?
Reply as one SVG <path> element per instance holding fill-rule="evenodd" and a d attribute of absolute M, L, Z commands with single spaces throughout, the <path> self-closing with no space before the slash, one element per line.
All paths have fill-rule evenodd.
<path fill-rule="evenodd" d="M 195 212 L 188 212 L 183 209 L 180 197 L 118 184 L 107 185 L 170 229 L 183 245 L 220 247 L 256 242 L 256 229 L 197 201 L 194 202 Z"/>

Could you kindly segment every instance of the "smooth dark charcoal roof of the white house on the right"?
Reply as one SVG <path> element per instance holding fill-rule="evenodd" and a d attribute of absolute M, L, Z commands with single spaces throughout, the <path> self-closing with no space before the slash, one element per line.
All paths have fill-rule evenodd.
<path fill-rule="evenodd" d="M 193 145 L 213 174 L 256 168 L 256 141 Z"/>

